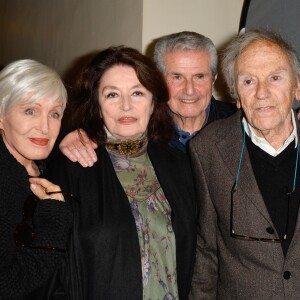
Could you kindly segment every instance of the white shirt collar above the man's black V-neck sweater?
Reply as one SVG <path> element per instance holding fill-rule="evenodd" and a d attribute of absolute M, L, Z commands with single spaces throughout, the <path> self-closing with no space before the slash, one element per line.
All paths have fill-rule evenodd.
<path fill-rule="evenodd" d="M 255 144 L 256 146 L 258 146 L 263 151 L 272 155 L 273 157 L 280 154 L 293 141 L 295 141 L 295 148 L 298 145 L 297 125 L 296 125 L 296 120 L 295 120 L 293 111 L 292 111 L 293 131 L 292 131 L 291 135 L 287 138 L 287 140 L 284 142 L 284 144 L 277 150 L 275 150 L 271 146 L 271 144 L 266 141 L 265 138 L 257 136 L 257 134 L 254 132 L 253 127 L 247 122 L 245 117 L 243 117 L 242 123 L 243 123 L 244 130 L 245 130 L 246 134 L 250 137 L 252 143 Z"/>

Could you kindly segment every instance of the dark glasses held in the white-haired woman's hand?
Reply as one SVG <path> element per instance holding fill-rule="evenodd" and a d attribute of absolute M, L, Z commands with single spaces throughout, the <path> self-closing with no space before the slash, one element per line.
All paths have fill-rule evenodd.
<path fill-rule="evenodd" d="M 65 193 L 63 191 L 54 191 L 54 192 L 47 192 L 47 195 L 53 195 L 53 194 L 62 194 L 66 197 L 69 197 L 75 201 L 78 201 L 72 194 Z M 32 246 L 32 242 L 35 239 L 35 232 L 33 227 L 30 225 L 32 222 L 33 214 L 37 205 L 38 201 L 40 200 L 35 195 L 29 195 L 23 206 L 22 210 L 22 221 L 20 224 L 17 225 L 15 230 L 15 242 L 17 247 L 27 247 L 27 248 L 34 248 L 34 249 L 42 249 L 42 250 L 54 250 L 54 251 L 60 251 L 65 252 L 65 249 L 60 249 L 57 247 L 39 247 L 39 246 Z"/>

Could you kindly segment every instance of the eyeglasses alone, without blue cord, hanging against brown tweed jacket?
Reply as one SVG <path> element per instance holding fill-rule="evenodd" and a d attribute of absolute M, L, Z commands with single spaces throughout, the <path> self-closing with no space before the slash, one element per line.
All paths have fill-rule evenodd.
<path fill-rule="evenodd" d="M 233 188 L 231 189 L 231 204 L 230 204 L 230 236 L 235 239 L 244 240 L 244 241 L 259 241 L 259 242 L 267 242 L 267 243 L 282 243 L 287 239 L 287 233 L 289 230 L 289 215 L 290 215 L 290 206 L 291 206 L 291 195 L 294 192 L 294 189 L 292 192 L 287 193 L 288 198 L 288 209 L 287 209 L 287 216 L 286 216 L 286 226 L 285 226 L 285 233 L 283 235 L 283 238 L 263 238 L 263 237 L 254 237 L 249 235 L 242 235 L 235 233 L 235 230 L 233 229 L 233 216 L 234 216 L 234 200 L 233 196 L 237 191 L 237 184 L 236 182 L 233 185 Z"/>

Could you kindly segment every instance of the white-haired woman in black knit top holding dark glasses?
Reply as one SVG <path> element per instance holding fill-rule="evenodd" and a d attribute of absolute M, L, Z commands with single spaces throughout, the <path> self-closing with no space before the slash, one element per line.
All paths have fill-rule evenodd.
<path fill-rule="evenodd" d="M 35 161 L 51 152 L 66 101 L 58 74 L 34 60 L 0 72 L 1 300 L 25 299 L 64 255 L 72 215 Z"/>

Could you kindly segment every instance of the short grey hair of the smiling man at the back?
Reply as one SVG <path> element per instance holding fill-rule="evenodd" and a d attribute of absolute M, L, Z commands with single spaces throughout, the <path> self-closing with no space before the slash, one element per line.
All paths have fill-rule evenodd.
<path fill-rule="evenodd" d="M 165 54 L 178 50 L 207 51 L 210 56 L 211 76 L 215 78 L 218 72 L 218 54 L 214 43 L 209 38 L 191 31 L 173 33 L 160 38 L 155 44 L 153 59 L 162 73 L 166 72 Z"/>

